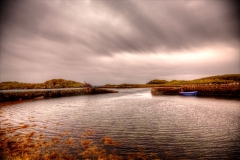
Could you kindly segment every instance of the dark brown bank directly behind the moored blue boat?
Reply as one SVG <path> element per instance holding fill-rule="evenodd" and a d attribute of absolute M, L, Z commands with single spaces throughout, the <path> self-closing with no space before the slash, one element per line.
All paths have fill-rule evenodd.
<path fill-rule="evenodd" d="M 198 91 L 197 96 L 240 99 L 239 85 L 186 85 L 181 87 L 153 87 L 152 95 L 178 95 L 180 91 Z"/>

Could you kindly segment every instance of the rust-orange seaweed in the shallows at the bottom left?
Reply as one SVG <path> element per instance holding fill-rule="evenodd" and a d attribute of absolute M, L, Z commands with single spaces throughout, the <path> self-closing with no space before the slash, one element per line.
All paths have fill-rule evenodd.
<path fill-rule="evenodd" d="M 0 113 L 0 115 L 3 112 Z M 30 117 L 32 119 L 34 117 Z M 155 154 L 147 154 L 144 149 L 126 156 L 117 151 L 120 143 L 105 136 L 96 139 L 92 130 L 87 130 L 79 139 L 70 137 L 70 132 L 63 132 L 49 138 L 36 132 L 37 125 L 23 122 L 12 124 L 8 119 L 1 119 L 0 159 L 6 160 L 123 160 L 157 159 Z M 94 138 L 95 137 L 95 138 Z"/>

